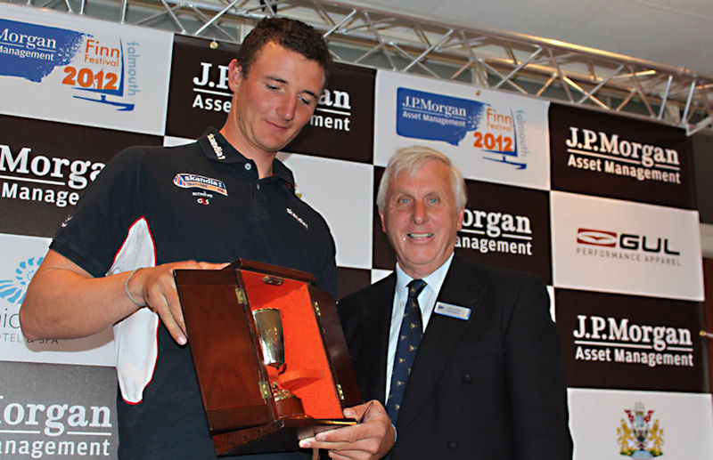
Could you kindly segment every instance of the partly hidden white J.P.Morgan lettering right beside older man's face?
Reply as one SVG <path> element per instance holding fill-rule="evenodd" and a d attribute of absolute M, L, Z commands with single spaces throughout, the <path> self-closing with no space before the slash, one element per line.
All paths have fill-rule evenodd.
<path fill-rule="evenodd" d="M 532 227 L 526 215 L 466 208 L 459 233 L 466 235 L 458 235 L 455 247 L 474 249 L 481 254 L 532 255 Z"/>

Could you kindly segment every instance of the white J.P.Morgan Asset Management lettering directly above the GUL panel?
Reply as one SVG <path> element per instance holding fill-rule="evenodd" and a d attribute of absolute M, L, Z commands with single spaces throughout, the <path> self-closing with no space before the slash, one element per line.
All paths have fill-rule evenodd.
<path fill-rule="evenodd" d="M 681 183 L 676 149 L 620 139 L 619 134 L 570 126 L 564 143 L 567 165 L 597 173 L 631 177 L 637 181 Z"/>

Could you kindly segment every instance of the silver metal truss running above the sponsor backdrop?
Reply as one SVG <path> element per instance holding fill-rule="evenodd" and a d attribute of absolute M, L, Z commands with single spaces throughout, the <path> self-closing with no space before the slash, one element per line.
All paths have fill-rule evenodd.
<path fill-rule="evenodd" d="M 4 0 L 7 1 L 7 0 Z M 12 0 L 240 43 L 265 16 L 304 20 L 335 61 L 418 73 L 713 132 L 713 77 L 535 36 L 324 0 Z"/>

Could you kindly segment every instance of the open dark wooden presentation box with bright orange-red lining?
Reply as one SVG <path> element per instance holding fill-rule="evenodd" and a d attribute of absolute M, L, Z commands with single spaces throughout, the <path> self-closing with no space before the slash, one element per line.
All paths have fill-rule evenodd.
<path fill-rule="evenodd" d="M 295 450 L 316 432 L 354 423 L 342 415 L 362 402 L 354 368 L 332 295 L 312 285 L 313 275 L 241 259 L 175 276 L 218 456 Z M 263 362 L 252 314 L 265 308 L 283 323 L 277 382 L 301 399 L 304 415 L 285 415 L 275 401 L 276 371 Z"/>

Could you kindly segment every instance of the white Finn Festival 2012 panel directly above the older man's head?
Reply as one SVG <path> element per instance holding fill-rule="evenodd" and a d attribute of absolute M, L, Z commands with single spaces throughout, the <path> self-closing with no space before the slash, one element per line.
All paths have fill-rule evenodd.
<path fill-rule="evenodd" d="M 421 144 L 445 153 L 469 179 L 550 186 L 547 101 L 384 70 L 374 101 L 375 165 Z"/>

